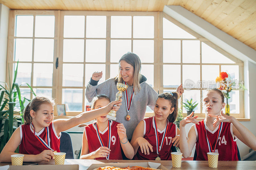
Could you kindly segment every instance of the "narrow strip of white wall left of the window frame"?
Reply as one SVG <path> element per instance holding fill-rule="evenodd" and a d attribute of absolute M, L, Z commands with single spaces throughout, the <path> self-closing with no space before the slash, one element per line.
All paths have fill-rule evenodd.
<path fill-rule="evenodd" d="M 0 81 L 5 82 L 9 8 L 0 4 Z"/>

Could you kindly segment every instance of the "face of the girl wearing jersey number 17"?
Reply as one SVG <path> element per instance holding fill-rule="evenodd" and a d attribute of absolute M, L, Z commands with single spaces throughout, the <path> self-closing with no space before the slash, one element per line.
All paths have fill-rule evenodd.
<path fill-rule="evenodd" d="M 171 106 L 169 100 L 158 98 L 154 108 L 156 120 L 166 120 L 172 114 L 174 107 Z"/>

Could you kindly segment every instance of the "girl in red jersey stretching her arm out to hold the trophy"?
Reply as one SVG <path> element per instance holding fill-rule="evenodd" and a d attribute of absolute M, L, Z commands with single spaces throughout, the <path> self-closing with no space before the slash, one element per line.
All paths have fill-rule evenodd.
<path fill-rule="evenodd" d="M 0 162 L 11 162 L 11 155 L 18 146 L 24 154 L 24 162 L 49 161 L 53 151 L 60 152 L 61 131 L 76 125 L 91 121 L 100 115 L 108 113 L 112 108 L 118 110 L 121 100 L 114 101 L 106 107 L 81 113 L 70 119 L 54 120 L 54 100 L 37 96 L 24 110 L 24 124 L 18 127 L 0 154 Z M 116 104 L 118 106 L 113 107 Z"/>

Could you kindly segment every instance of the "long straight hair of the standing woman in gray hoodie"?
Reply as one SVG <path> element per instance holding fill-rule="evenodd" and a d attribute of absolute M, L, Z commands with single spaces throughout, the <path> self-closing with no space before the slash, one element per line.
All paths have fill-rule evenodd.
<path fill-rule="evenodd" d="M 133 67 L 133 87 L 134 87 L 134 93 L 136 94 L 136 92 L 140 92 L 140 79 L 141 79 L 141 74 L 140 74 L 140 70 L 141 70 L 141 62 L 140 62 L 140 58 L 138 55 L 128 52 L 126 54 L 124 54 L 118 63 L 120 63 L 120 61 L 124 60 L 126 63 L 131 64 Z M 120 68 L 118 71 L 118 76 L 115 78 L 115 80 L 119 83 L 123 83 L 123 78 L 120 75 Z"/>

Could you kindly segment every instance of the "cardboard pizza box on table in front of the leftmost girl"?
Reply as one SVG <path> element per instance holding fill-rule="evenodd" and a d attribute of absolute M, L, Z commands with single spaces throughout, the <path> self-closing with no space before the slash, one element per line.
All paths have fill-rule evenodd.
<path fill-rule="evenodd" d="M 8 165 L 9 166 L 9 165 Z M 0 169 L 6 170 L 79 170 L 79 165 L 23 165 L 23 166 L 0 166 Z"/>

